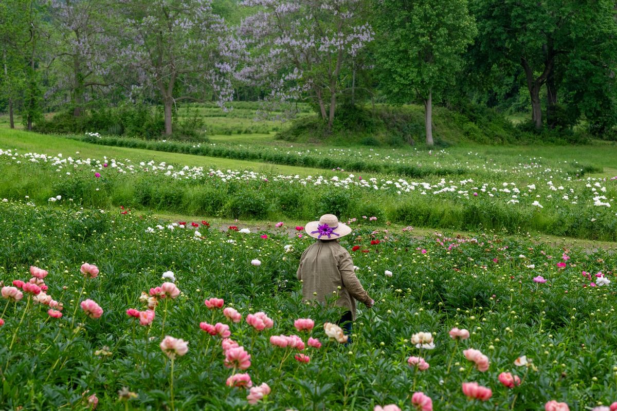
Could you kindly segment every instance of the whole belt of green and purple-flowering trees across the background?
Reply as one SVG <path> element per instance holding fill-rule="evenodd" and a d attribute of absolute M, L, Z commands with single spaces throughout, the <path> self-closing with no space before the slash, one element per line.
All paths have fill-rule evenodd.
<path fill-rule="evenodd" d="M 173 136 L 180 105 L 238 100 L 281 120 L 308 103 L 326 135 L 422 104 L 428 145 L 436 105 L 617 124 L 614 0 L 2 0 L 0 47 L 0 112 L 40 131 Z"/>

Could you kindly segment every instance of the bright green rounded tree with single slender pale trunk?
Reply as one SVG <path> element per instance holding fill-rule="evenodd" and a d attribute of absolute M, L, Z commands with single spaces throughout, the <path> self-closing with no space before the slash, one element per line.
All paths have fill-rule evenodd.
<path fill-rule="evenodd" d="M 433 145 L 433 96 L 452 85 L 476 35 L 466 0 L 376 0 L 379 85 L 395 104 L 424 103 Z"/>

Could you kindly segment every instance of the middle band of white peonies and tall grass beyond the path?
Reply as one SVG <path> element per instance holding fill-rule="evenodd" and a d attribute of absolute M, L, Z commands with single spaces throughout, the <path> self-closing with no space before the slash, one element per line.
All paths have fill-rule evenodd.
<path fill-rule="evenodd" d="M 360 153 L 371 155 L 359 151 L 358 157 Z M 62 201 L 96 208 L 126 206 L 233 219 L 309 221 L 336 213 L 345 219 L 376 216 L 379 222 L 421 227 L 617 240 L 616 178 L 577 176 L 582 168 L 556 161 L 530 158 L 503 164 L 473 153 L 468 157 L 465 164 L 447 151 L 415 153 L 410 157 L 415 164 L 432 161 L 435 168 L 464 167 L 465 173 L 412 179 L 346 171 L 258 173 L 0 149 L 0 166 L 6 170 L 0 176 L 0 198 L 28 196 L 40 204 L 60 195 Z"/>

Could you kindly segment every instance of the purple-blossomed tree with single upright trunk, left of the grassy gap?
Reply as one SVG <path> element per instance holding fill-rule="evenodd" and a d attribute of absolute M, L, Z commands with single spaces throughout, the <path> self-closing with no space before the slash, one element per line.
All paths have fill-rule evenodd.
<path fill-rule="evenodd" d="M 131 43 L 122 56 L 160 94 L 165 134 L 172 134 L 173 108 L 181 100 L 233 98 L 232 78 L 242 52 L 210 0 L 122 0 Z"/>

